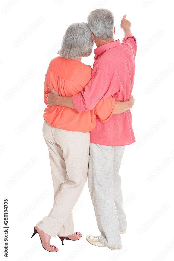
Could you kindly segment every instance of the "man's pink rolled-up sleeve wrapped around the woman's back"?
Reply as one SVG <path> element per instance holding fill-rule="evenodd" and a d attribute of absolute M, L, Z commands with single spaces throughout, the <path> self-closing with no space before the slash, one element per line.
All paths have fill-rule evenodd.
<path fill-rule="evenodd" d="M 108 98 L 117 91 L 119 91 L 119 86 L 115 86 L 111 77 L 104 70 L 98 68 L 85 86 L 85 91 L 73 95 L 72 101 L 76 110 L 81 113 L 92 110 L 99 100 Z"/>

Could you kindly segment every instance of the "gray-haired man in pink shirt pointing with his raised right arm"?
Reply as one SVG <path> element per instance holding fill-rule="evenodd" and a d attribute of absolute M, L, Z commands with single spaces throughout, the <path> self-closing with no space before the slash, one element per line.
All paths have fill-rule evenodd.
<path fill-rule="evenodd" d="M 100 99 L 114 96 L 116 101 L 129 100 L 135 73 L 136 38 L 130 31 L 131 23 L 121 20 L 125 33 L 122 43 L 114 41 L 114 16 L 107 9 L 96 9 L 87 18 L 97 48 L 92 78 L 85 91 L 72 97 L 61 97 L 50 88 L 49 106 L 61 105 L 78 112 L 91 110 Z M 119 168 L 125 146 L 135 142 L 130 110 L 113 115 L 90 132 L 88 187 L 94 205 L 100 236 L 87 236 L 93 245 L 121 249 L 121 236 L 126 232 Z"/>

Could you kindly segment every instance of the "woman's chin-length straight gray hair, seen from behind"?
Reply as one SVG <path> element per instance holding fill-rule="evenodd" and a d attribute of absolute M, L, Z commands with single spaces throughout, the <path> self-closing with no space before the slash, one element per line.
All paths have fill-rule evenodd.
<path fill-rule="evenodd" d="M 63 36 L 58 54 L 66 59 L 78 60 L 90 56 L 92 47 L 92 35 L 87 23 L 72 23 Z"/>

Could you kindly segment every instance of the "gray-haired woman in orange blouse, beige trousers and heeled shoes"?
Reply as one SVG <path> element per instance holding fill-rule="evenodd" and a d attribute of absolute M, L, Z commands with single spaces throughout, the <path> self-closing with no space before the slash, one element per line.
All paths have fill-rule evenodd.
<path fill-rule="evenodd" d="M 90 81 L 92 68 L 81 62 L 92 52 L 93 40 L 86 23 L 71 24 L 63 37 L 59 56 L 48 67 L 44 83 L 44 102 L 47 105 L 43 117 L 43 136 L 49 150 L 54 187 L 54 204 L 48 216 L 34 227 L 42 246 L 50 252 L 58 249 L 50 245 L 51 236 L 62 240 L 78 240 L 82 234 L 74 233 L 72 210 L 87 180 L 89 162 L 89 131 L 95 128 L 96 114 L 100 121 L 109 120 L 115 109 L 111 96 L 97 103 L 94 109 L 78 113 L 76 109 L 48 106 L 48 85 L 61 96 L 72 96 L 84 91 Z M 119 103 L 119 102 L 118 102 Z M 121 112 L 127 110 L 128 102 Z M 130 108 L 132 101 L 130 101 Z M 124 106 L 121 106 L 123 108 Z M 118 108 L 118 106 L 117 106 Z M 32 237 L 33 237 L 32 235 Z"/>

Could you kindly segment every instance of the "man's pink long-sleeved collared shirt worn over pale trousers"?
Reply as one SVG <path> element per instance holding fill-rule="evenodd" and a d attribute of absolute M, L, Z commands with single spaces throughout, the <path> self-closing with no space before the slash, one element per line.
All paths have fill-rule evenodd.
<path fill-rule="evenodd" d="M 94 50 L 92 77 L 85 91 L 73 95 L 78 112 L 94 108 L 101 99 L 114 96 L 116 101 L 129 100 L 134 84 L 136 38 L 127 34 L 120 40 L 101 45 Z M 135 142 L 130 110 L 102 123 L 96 116 L 96 127 L 90 131 L 90 142 L 107 146 L 123 146 Z"/>

